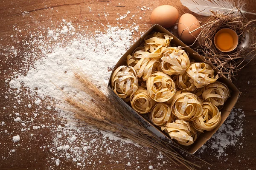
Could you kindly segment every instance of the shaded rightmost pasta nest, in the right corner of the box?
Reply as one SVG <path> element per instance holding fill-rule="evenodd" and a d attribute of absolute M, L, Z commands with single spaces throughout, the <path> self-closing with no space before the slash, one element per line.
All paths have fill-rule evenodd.
<path fill-rule="evenodd" d="M 224 105 L 227 98 L 230 96 L 230 91 L 222 82 L 215 82 L 207 85 L 203 89 L 203 99 L 207 102 L 211 102 L 215 106 Z"/>

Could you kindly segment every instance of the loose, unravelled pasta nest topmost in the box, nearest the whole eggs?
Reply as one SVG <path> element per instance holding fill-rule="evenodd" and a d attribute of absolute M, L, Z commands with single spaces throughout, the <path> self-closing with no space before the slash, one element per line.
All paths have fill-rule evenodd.
<path fill-rule="evenodd" d="M 173 37 L 165 33 L 155 32 L 145 37 L 144 48 L 137 48 L 134 52 L 135 58 L 154 58 L 160 59 L 163 50 L 169 47 Z"/>

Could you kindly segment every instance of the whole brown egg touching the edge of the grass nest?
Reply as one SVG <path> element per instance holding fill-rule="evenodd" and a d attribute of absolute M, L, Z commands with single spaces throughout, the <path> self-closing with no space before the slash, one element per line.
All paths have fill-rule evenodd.
<path fill-rule="evenodd" d="M 180 17 L 178 24 L 178 34 L 180 36 L 180 40 L 185 44 L 192 44 L 196 37 L 201 32 L 201 28 L 189 34 L 189 31 L 193 31 L 196 28 L 200 27 L 200 23 L 196 19 L 196 17 L 192 14 L 183 14 Z"/>

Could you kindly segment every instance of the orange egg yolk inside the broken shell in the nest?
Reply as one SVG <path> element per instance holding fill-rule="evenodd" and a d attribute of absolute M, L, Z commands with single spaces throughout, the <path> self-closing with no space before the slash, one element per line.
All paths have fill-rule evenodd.
<path fill-rule="evenodd" d="M 222 50 L 228 50 L 233 46 L 233 37 L 227 32 L 219 34 L 216 40 L 218 47 Z"/>

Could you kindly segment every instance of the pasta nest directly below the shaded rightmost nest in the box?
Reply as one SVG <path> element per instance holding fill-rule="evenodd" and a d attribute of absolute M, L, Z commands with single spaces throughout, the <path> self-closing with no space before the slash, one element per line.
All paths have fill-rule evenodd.
<path fill-rule="evenodd" d="M 193 126 L 199 132 L 210 131 L 221 122 L 221 112 L 210 102 L 202 103 L 203 113 L 193 121 Z"/>

